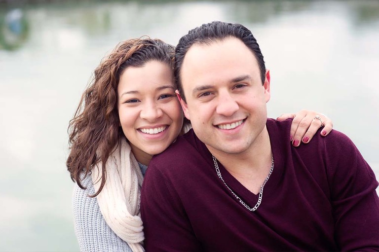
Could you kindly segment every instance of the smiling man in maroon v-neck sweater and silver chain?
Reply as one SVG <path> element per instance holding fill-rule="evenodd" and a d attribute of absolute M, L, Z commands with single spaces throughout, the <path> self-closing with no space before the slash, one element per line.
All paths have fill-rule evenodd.
<path fill-rule="evenodd" d="M 202 25 L 175 60 L 193 131 L 150 163 L 147 251 L 379 250 L 373 171 L 340 132 L 295 148 L 291 121 L 267 119 L 270 74 L 248 29 Z"/>

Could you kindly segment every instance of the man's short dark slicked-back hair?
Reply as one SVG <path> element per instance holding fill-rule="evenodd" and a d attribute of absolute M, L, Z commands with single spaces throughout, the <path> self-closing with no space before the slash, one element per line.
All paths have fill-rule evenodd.
<path fill-rule="evenodd" d="M 212 42 L 224 40 L 225 38 L 236 37 L 240 39 L 254 54 L 258 61 L 259 70 L 261 71 L 262 84 L 265 82 L 265 61 L 257 40 L 249 29 L 241 24 L 230 24 L 221 21 L 213 21 L 208 24 L 203 24 L 200 27 L 192 29 L 187 35 L 182 36 L 175 49 L 175 66 L 174 76 L 178 85 L 178 90 L 182 98 L 186 101 L 184 96 L 181 69 L 184 61 L 184 57 L 189 48 L 193 44 L 205 44 L 209 45 Z"/>

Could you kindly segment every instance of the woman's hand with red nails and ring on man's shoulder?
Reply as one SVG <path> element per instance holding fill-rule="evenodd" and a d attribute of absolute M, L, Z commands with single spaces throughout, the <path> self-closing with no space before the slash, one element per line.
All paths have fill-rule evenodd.
<path fill-rule="evenodd" d="M 317 113 L 310 110 L 300 110 L 296 114 L 282 114 L 276 120 L 284 121 L 288 118 L 293 118 L 290 140 L 294 146 L 299 146 L 301 142 L 309 143 L 317 130 L 324 126 L 321 130 L 321 136 L 327 136 L 333 128 L 333 122 L 322 113 Z"/>

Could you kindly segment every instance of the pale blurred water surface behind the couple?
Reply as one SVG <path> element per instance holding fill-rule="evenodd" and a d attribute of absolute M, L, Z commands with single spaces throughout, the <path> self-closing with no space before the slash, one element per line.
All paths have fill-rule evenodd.
<path fill-rule="evenodd" d="M 270 117 L 327 114 L 379 177 L 379 1 L 68 1 L 0 5 L 0 251 L 78 251 L 67 126 L 93 69 L 121 40 L 176 44 L 242 23 L 271 73 Z"/>

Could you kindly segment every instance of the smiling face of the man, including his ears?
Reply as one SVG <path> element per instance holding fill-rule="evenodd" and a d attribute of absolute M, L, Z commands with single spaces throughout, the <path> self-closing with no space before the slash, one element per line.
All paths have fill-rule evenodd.
<path fill-rule="evenodd" d="M 270 99 L 269 72 L 262 85 L 258 62 L 241 40 L 191 46 L 181 77 L 184 113 L 214 155 L 247 153 L 259 144 Z"/>

